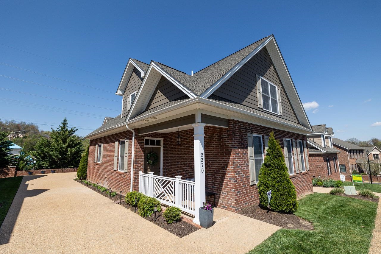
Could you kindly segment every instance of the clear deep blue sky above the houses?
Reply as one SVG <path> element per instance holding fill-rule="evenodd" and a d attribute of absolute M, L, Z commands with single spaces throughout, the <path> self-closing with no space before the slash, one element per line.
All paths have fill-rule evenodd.
<path fill-rule="evenodd" d="M 128 58 L 190 74 L 274 34 L 302 102 L 311 103 L 311 124 L 325 123 L 342 139 L 381 138 L 380 7 L 376 1 L 2 2 L 0 88 L 8 90 L 0 89 L 0 119 L 49 130 L 66 116 L 86 135 L 103 116 L 120 113 L 122 97 L 114 93 Z"/>

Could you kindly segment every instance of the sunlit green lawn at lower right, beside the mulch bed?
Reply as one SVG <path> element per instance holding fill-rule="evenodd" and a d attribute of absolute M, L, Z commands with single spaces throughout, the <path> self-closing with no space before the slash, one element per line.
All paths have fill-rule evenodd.
<path fill-rule="evenodd" d="M 368 253 L 377 203 L 314 193 L 295 213 L 315 230 L 280 229 L 249 253 Z"/>

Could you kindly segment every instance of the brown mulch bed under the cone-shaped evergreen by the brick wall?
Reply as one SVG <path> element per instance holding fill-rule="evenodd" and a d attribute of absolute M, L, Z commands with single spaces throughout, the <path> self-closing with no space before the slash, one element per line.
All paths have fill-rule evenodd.
<path fill-rule="evenodd" d="M 256 220 L 261 220 L 263 222 L 277 225 L 282 228 L 314 230 L 314 226 L 311 222 L 299 218 L 294 214 L 282 214 L 279 212 L 271 211 L 270 217 L 270 213 L 267 213 L 267 209 L 264 209 L 258 205 L 245 207 L 238 213 Z"/>

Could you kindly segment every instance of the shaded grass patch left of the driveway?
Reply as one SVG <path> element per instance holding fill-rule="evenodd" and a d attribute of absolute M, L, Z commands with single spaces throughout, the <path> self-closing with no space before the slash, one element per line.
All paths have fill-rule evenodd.
<path fill-rule="evenodd" d="M 16 192 L 19 189 L 21 180 L 22 176 L 0 178 L 0 227 L 12 204 L 14 195 L 16 195 Z"/>

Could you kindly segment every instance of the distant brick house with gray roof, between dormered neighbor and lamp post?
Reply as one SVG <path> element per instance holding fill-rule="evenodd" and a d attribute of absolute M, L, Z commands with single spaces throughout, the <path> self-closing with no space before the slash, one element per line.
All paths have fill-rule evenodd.
<path fill-rule="evenodd" d="M 347 181 L 351 181 L 350 175 L 353 170 L 363 172 L 357 166 L 356 160 L 365 157 L 364 148 L 338 138 L 332 138 L 332 143 L 333 147 L 340 151 L 338 153 L 340 172 L 346 176 Z"/>

